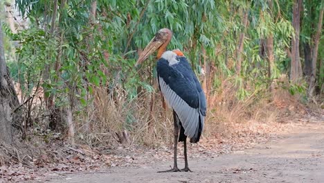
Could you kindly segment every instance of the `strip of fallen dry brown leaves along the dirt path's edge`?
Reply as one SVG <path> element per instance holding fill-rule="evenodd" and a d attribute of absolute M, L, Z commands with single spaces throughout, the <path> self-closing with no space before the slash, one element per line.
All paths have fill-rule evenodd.
<path fill-rule="evenodd" d="M 289 132 L 294 123 L 242 123 L 228 124 L 233 133 L 224 136 L 214 134 L 203 137 L 199 143 L 188 144 L 188 157 L 191 159 L 213 158 L 222 154 L 240 153 L 257 143 L 264 143 L 276 134 Z M 235 129 L 237 129 L 235 131 Z M 0 182 L 44 182 L 62 174 L 109 172 L 114 166 L 145 166 L 152 162 L 165 162 L 173 157 L 172 143 L 161 144 L 155 148 L 138 145 L 113 144 L 109 147 L 93 148 L 86 145 L 71 147 L 62 141 L 38 146 L 28 165 L 12 161 L 0 163 Z M 183 158 L 183 144 L 178 143 L 178 157 Z M 224 170 L 226 171 L 226 170 Z M 242 173 L 253 170 L 240 168 L 226 172 Z"/>

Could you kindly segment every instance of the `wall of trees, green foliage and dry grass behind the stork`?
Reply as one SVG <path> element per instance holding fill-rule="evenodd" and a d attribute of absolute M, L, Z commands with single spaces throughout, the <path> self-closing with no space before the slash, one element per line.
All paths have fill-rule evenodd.
<path fill-rule="evenodd" d="M 92 146 L 170 139 L 156 58 L 134 68 L 160 28 L 173 31 L 168 49 L 181 49 L 202 82 L 206 136 L 226 123 L 267 119 L 287 98 L 323 106 L 323 6 L 322 0 L 1 1 L 6 62 L 24 103 L 16 125 L 23 138 L 51 129 Z"/>

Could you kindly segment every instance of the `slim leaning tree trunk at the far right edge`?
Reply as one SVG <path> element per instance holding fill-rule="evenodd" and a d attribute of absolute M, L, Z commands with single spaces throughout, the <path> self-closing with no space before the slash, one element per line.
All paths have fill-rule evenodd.
<path fill-rule="evenodd" d="M 312 50 L 312 72 L 309 77 L 309 87 L 308 87 L 308 97 L 312 97 L 314 94 L 314 88 L 315 88 L 315 80 L 316 80 L 316 62 L 317 62 L 317 54 L 318 54 L 318 44 L 321 39 L 321 32 L 322 32 L 322 22 L 323 22 L 323 0 L 322 0 L 322 8 L 320 15 L 318 17 L 318 24 L 317 24 L 317 30 L 316 34 L 314 36 L 314 46 Z"/>

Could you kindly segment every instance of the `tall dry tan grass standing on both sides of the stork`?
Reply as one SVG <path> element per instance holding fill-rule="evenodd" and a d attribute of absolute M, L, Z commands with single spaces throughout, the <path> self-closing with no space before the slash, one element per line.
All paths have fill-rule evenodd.
<path fill-rule="evenodd" d="M 204 137 L 233 137 L 242 131 L 255 131 L 255 126 L 267 126 L 276 123 L 278 115 L 291 107 L 300 108 L 294 96 L 284 89 L 270 95 L 251 94 L 244 100 L 238 100 L 232 80 L 224 80 L 222 85 L 210 95 Z M 153 110 L 151 102 L 153 99 Z M 271 101 L 271 102 L 269 102 Z M 289 103 L 282 108 L 283 102 Z M 170 109 L 162 107 L 160 94 L 141 93 L 133 100 L 125 100 L 125 91 L 116 89 L 114 95 L 107 89 L 94 89 L 93 105 L 82 113 L 78 120 L 78 137 L 91 146 L 109 146 L 120 141 L 123 132 L 127 132 L 129 143 L 159 146 L 172 143 L 173 119 Z M 267 124 L 267 125 L 264 125 Z M 266 132 L 267 129 L 263 129 Z M 249 133 L 249 132 L 248 132 Z"/>

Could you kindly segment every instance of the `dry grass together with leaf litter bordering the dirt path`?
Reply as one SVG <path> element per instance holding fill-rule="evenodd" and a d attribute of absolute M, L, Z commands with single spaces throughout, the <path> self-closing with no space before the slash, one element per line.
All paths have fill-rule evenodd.
<path fill-rule="evenodd" d="M 219 92 L 208 96 L 211 110 L 201 141 L 188 147 L 191 158 L 215 157 L 251 148 L 320 114 L 315 107 L 304 105 L 298 96 L 291 96 L 280 87 L 271 95 L 255 94 L 244 101 L 237 100 L 233 91 L 234 85 L 224 80 Z M 172 158 L 170 109 L 163 108 L 161 96 L 156 93 L 152 100 L 154 109 L 150 111 L 152 103 L 145 99 L 148 96 L 152 95 L 145 93 L 136 100 L 124 101 L 123 97 L 109 96 L 107 89 L 96 87 L 93 105 L 84 109 L 87 113 L 79 112 L 74 118 L 73 146 L 65 140 L 67 133 L 38 125 L 26 134 L 26 141 L 16 141 L 15 148 L 1 145 L 1 177 L 12 181 L 35 180 L 51 172 L 98 171 Z M 39 109 L 37 105 L 41 103 L 35 101 L 33 105 L 33 109 Z M 136 122 L 125 123 L 131 120 Z M 17 135 L 21 139 L 21 134 Z M 182 148 L 179 144 L 179 157 L 183 157 Z"/>

